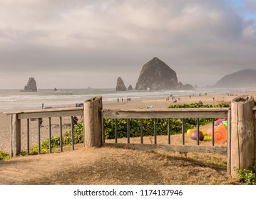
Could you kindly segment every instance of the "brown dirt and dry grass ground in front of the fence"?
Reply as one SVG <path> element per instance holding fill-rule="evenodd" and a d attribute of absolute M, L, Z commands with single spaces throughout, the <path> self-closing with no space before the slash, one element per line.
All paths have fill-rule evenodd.
<path fill-rule="evenodd" d="M 225 157 L 203 156 L 77 146 L 0 161 L 0 184 L 227 184 Z"/>

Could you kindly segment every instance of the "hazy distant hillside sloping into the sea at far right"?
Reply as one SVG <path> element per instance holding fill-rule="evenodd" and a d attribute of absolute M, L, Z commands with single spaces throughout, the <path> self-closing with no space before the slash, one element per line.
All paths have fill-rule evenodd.
<path fill-rule="evenodd" d="M 213 87 L 256 87 L 256 70 L 246 69 L 225 75 Z"/>

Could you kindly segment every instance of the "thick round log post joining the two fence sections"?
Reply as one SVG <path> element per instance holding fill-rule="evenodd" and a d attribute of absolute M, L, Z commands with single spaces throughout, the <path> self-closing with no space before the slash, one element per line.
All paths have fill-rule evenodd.
<path fill-rule="evenodd" d="M 103 146 L 101 127 L 102 97 L 97 96 L 86 100 L 83 107 L 84 146 Z"/>

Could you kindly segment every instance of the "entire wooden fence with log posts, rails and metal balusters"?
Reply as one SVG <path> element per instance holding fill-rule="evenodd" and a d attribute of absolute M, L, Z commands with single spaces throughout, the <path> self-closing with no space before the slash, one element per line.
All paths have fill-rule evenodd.
<path fill-rule="evenodd" d="M 66 108 L 66 109 L 41 109 L 37 111 L 26 112 L 8 112 L 11 114 L 11 155 L 15 156 L 21 152 L 21 119 L 28 121 L 29 134 L 29 119 L 30 118 L 49 118 L 49 126 L 51 117 L 68 116 L 83 116 L 83 133 L 85 146 L 118 146 L 131 149 L 143 150 L 158 150 L 166 151 L 183 151 L 183 152 L 207 152 L 227 154 L 227 173 L 235 177 L 234 167 L 248 168 L 256 160 L 256 108 L 254 107 L 253 97 L 236 97 L 232 100 L 231 108 L 213 108 L 213 109 L 103 109 L 102 97 L 93 97 L 84 102 L 84 107 Z M 104 119 L 127 119 L 127 124 L 130 125 L 130 119 L 170 119 L 170 118 L 227 118 L 227 146 L 215 146 L 214 141 L 212 146 L 200 146 L 197 139 L 196 146 L 186 146 L 184 144 L 175 146 L 170 144 L 157 144 L 157 132 L 154 130 L 154 144 L 130 144 L 130 132 L 128 126 L 127 144 L 105 143 L 104 139 Z M 214 123 L 213 123 L 214 124 Z M 154 125 L 156 125 L 154 123 Z M 61 126 L 61 125 L 60 125 Z M 184 125 L 183 137 L 184 137 Z M 71 125 L 73 127 L 73 125 Z M 51 129 L 51 127 L 49 127 Z M 156 129 L 156 128 L 154 128 Z M 198 124 L 199 137 L 199 124 Z M 142 129 L 143 131 L 143 129 Z M 214 128 L 213 128 L 214 131 Z M 73 132 L 73 128 L 72 128 Z M 115 129 L 117 134 L 117 129 Z M 142 135 L 140 133 L 140 135 Z M 40 136 L 40 127 L 39 127 Z M 73 133 L 72 133 L 73 136 Z M 170 129 L 168 128 L 168 136 Z M 49 130 L 51 137 L 51 130 Z M 39 139 L 40 140 L 40 139 Z M 51 140 L 51 139 L 50 139 Z M 40 143 L 39 143 L 40 144 Z M 40 149 L 39 149 L 40 150 Z M 39 151 L 40 152 L 40 151 Z"/>

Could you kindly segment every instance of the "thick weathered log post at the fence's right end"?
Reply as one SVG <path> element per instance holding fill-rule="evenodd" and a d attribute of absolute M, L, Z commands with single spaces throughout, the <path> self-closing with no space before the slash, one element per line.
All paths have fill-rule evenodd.
<path fill-rule="evenodd" d="M 234 168 L 247 169 L 255 161 L 255 118 L 253 97 L 236 97 L 231 103 L 231 151 L 232 178 L 237 178 Z"/>

